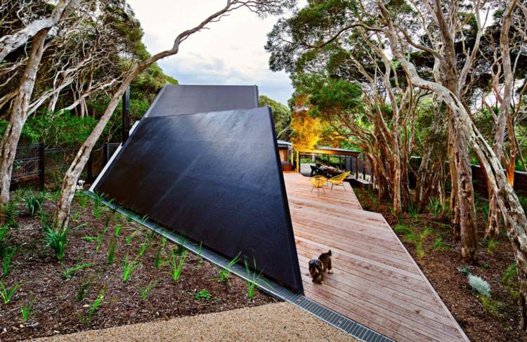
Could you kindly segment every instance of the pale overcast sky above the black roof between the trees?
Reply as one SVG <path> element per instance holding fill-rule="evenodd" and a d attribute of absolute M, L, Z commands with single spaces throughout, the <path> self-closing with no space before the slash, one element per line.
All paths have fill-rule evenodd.
<path fill-rule="evenodd" d="M 222 0 L 128 0 L 141 21 L 152 54 L 171 48 L 176 35 L 225 5 Z M 245 8 L 209 25 L 159 62 L 180 84 L 256 84 L 260 95 L 287 104 L 292 86 L 285 72 L 271 72 L 263 46 L 276 17 L 258 18 Z"/>

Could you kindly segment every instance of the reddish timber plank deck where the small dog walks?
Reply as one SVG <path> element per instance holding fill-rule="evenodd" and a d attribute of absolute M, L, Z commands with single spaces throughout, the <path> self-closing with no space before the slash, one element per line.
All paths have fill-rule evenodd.
<path fill-rule="evenodd" d="M 364 211 L 349 184 L 318 197 L 308 178 L 284 178 L 308 298 L 396 341 L 468 341 L 384 217 Z M 334 274 L 313 284 L 308 261 L 328 249 Z"/>

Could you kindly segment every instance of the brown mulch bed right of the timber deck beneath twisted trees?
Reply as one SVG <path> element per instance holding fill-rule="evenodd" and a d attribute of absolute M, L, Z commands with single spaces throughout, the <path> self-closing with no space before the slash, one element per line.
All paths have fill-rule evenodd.
<path fill-rule="evenodd" d="M 372 192 L 358 187 L 353 190 L 364 210 L 382 213 L 392 228 L 398 225 L 399 228 L 403 227 L 396 229 L 399 230 L 396 231 L 398 237 L 471 341 L 527 341 L 527 334 L 518 329 L 519 284 L 516 277 L 504 280 L 507 268 L 514 263 L 512 246 L 505 232 L 490 244 L 483 239 L 486 215 L 481 209 L 484 202 L 476 204 L 481 241 L 479 265 L 467 265 L 460 258 L 460 244 L 453 240 L 448 218 L 438 218 L 427 213 L 406 214 L 397 219 L 389 204 L 379 203 Z M 423 237 L 419 250 L 415 242 L 405 239 L 408 230 L 405 232 L 404 228 L 410 228 L 414 235 L 422 234 L 428 229 L 429 235 Z M 472 274 L 482 277 L 490 284 L 491 301 L 487 308 L 471 289 L 467 276 L 459 268 L 468 268 Z"/>

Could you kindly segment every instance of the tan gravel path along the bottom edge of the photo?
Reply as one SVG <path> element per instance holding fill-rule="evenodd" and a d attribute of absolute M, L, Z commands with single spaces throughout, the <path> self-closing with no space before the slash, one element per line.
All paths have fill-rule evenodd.
<path fill-rule="evenodd" d="M 36 341 L 356 341 L 289 303 L 40 338 Z"/>

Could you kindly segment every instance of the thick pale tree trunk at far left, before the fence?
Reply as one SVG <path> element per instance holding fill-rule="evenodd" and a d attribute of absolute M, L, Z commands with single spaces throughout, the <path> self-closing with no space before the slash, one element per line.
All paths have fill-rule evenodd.
<path fill-rule="evenodd" d="M 49 29 L 42 29 L 32 41 L 30 57 L 20 80 L 18 95 L 13 103 L 11 118 L 6 127 L 4 136 L 0 144 L 0 206 L 3 208 L 9 202 L 9 187 L 11 185 L 11 173 L 13 162 L 15 161 L 16 147 L 22 127 L 27 120 L 27 110 L 30 105 L 37 71 L 39 70 L 40 60 L 44 53 L 44 41 Z"/>

